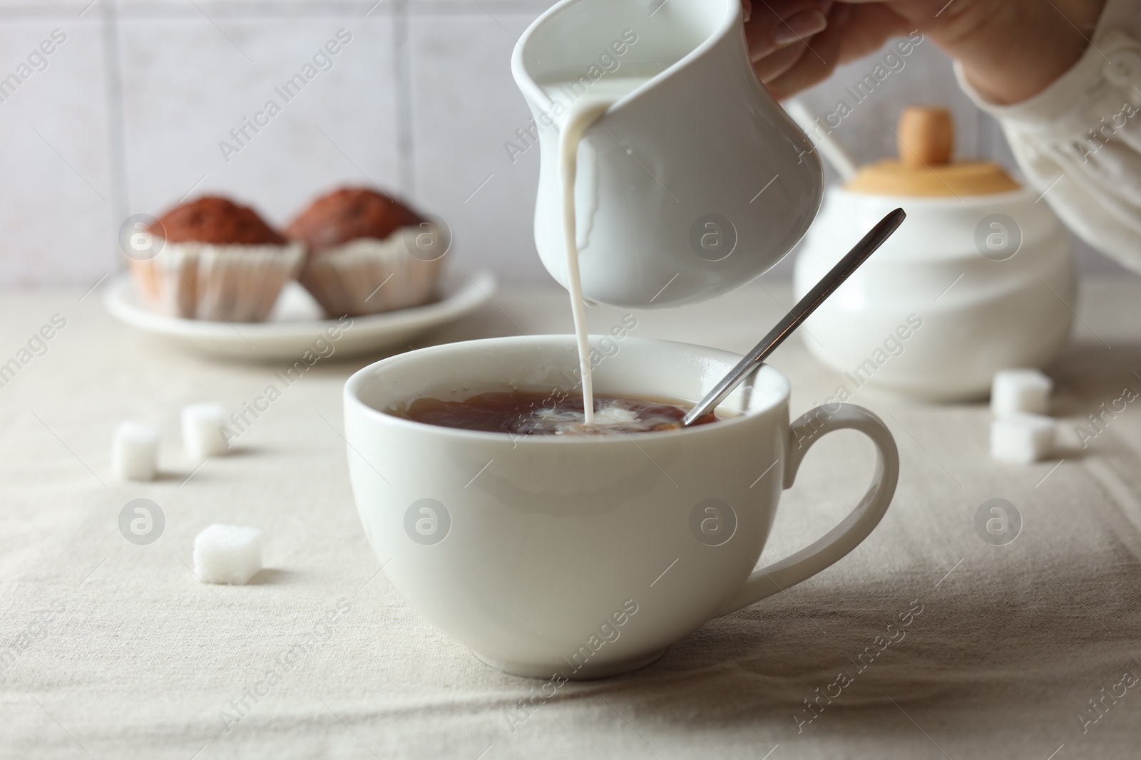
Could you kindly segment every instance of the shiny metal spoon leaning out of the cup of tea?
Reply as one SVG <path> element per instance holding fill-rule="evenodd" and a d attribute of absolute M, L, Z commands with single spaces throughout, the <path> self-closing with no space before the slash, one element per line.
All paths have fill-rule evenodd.
<path fill-rule="evenodd" d="M 734 390 L 741 385 L 742 381 L 748 377 L 748 374 L 756 369 L 764 359 L 772 353 L 778 345 L 784 343 L 784 340 L 792 334 L 794 329 L 800 327 L 801 322 L 808 319 L 809 314 L 816 311 L 816 308 L 824 303 L 825 299 L 832 295 L 840 285 L 848 279 L 848 277 L 856 271 L 860 264 L 863 264 L 868 256 L 875 253 L 875 250 L 883 245 L 883 242 L 891 237 L 891 234 L 903 223 L 907 214 L 904 213 L 903 209 L 896 209 L 890 214 L 883 218 L 883 220 L 872 228 L 867 235 L 864 236 L 856 246 L 848 252 L 840 262 L 832 268 L 832 270 L 824 276 L 819 283 L 816 284 L 808 294 L 801 299 L 795 307 L 792 308 L 785 318 L 782 319 L 776 327 L 774 327 L 764 338 L 756 344 L 752 351 L 750 351 L 744 359 L 737 362 L 737 366 L 729 370 L 729 374 L 721 378 L 712 391 L 709 392 L 701 402 L 689 410 L 681 419 L 681 426 L 688 427 L 693 425 L 695 420 L 701 419 L 714 408 L 717 404 L 725 401 L 726 397 L 734 392 Z"/>

